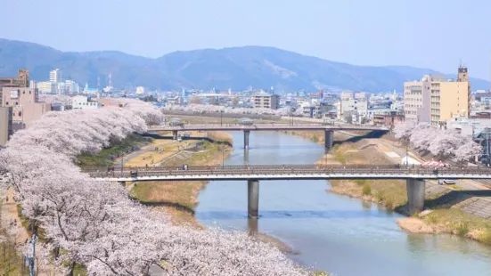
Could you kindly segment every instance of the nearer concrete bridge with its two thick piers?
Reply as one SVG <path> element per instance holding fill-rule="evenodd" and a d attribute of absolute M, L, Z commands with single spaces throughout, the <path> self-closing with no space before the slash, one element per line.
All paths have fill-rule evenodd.
<path fill-rule="evenodd" d="M 315 166 L 315 165 L 239 165 L 135 167 L 115 169 L 85 168 L 83 172 L 98 181 L 225 181 L 248 182 L 248 214 L 258 218 L 260 180 L 330 180 L 330 179 L 403 179 L 406 181 L 407 206 L 410 213 L 424 207 L 426 179 L 491 179 L 491 169 L 476 166 L 429 168 L 421 166 Z"/>

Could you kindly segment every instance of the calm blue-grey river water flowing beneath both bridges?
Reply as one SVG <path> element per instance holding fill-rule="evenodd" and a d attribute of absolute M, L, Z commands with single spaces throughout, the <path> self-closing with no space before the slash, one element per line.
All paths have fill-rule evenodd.
<path fill-rule="evenodd" d="M 323 147 L 294 135 L 233 132 L 233 153 L 225 164 L 313 164 Z M 407 234 L 402 215 L 327 191 L 325 181 L 259 183 L 258 231 L 290 245 L 291 258 L 338 276 L 491 275 L 491 247 L 450 235 Z M 205 225 L 248 230 L 247 183 L 211 182 L 200 193 L 196 217 Z M 253 222 L 252 222 L 253 223 Z"/>

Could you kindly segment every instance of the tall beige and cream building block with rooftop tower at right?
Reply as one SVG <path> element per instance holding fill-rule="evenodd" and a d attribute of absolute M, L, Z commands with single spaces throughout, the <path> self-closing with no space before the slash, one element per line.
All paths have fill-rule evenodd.
<path fill-rule="evenodd" d="M 461 66 L 457 79 L 426 75 L 421 81 L 405 82 L 405 119 L 418 123 L 442 124 L 454 117 L 469 117 L 471 83 Z"/>

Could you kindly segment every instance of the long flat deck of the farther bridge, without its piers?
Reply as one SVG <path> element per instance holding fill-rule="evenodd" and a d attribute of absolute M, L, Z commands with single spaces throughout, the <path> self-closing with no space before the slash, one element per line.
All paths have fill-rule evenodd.
<path fill-rule="evenodd" d="M 272 130 L 312 130 L 312 131 L 325 131 L 325 130 L 346 130 L 346 131 L 373 131 L 381 130 L 387 131 L 389 128 L 385 126 L 356 126 L 356 125 L 322 125 L 322 124 L 309 124 L 309 125 L 287 125 L 287 124 L 256 124 L 252 126 L 242 126 L 239 124 L 206 124 L 206 125 L 184 125 L 184 126 L 151 126 L 149 131 L 237 131 L 237 130 L 250 130 L 250 131 L 272 131 Z"/>

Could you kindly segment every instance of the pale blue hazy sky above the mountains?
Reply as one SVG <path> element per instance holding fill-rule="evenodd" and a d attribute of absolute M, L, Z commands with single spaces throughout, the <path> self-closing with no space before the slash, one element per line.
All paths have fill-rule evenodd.
<path fill-rule="evenodd" d="M 358 65 L 490 78 L 487 0 L 0 0 L 0 37 L 159 57 L 266 45 Z M 0 61 L 1 63 L 1 61 Z"/>

